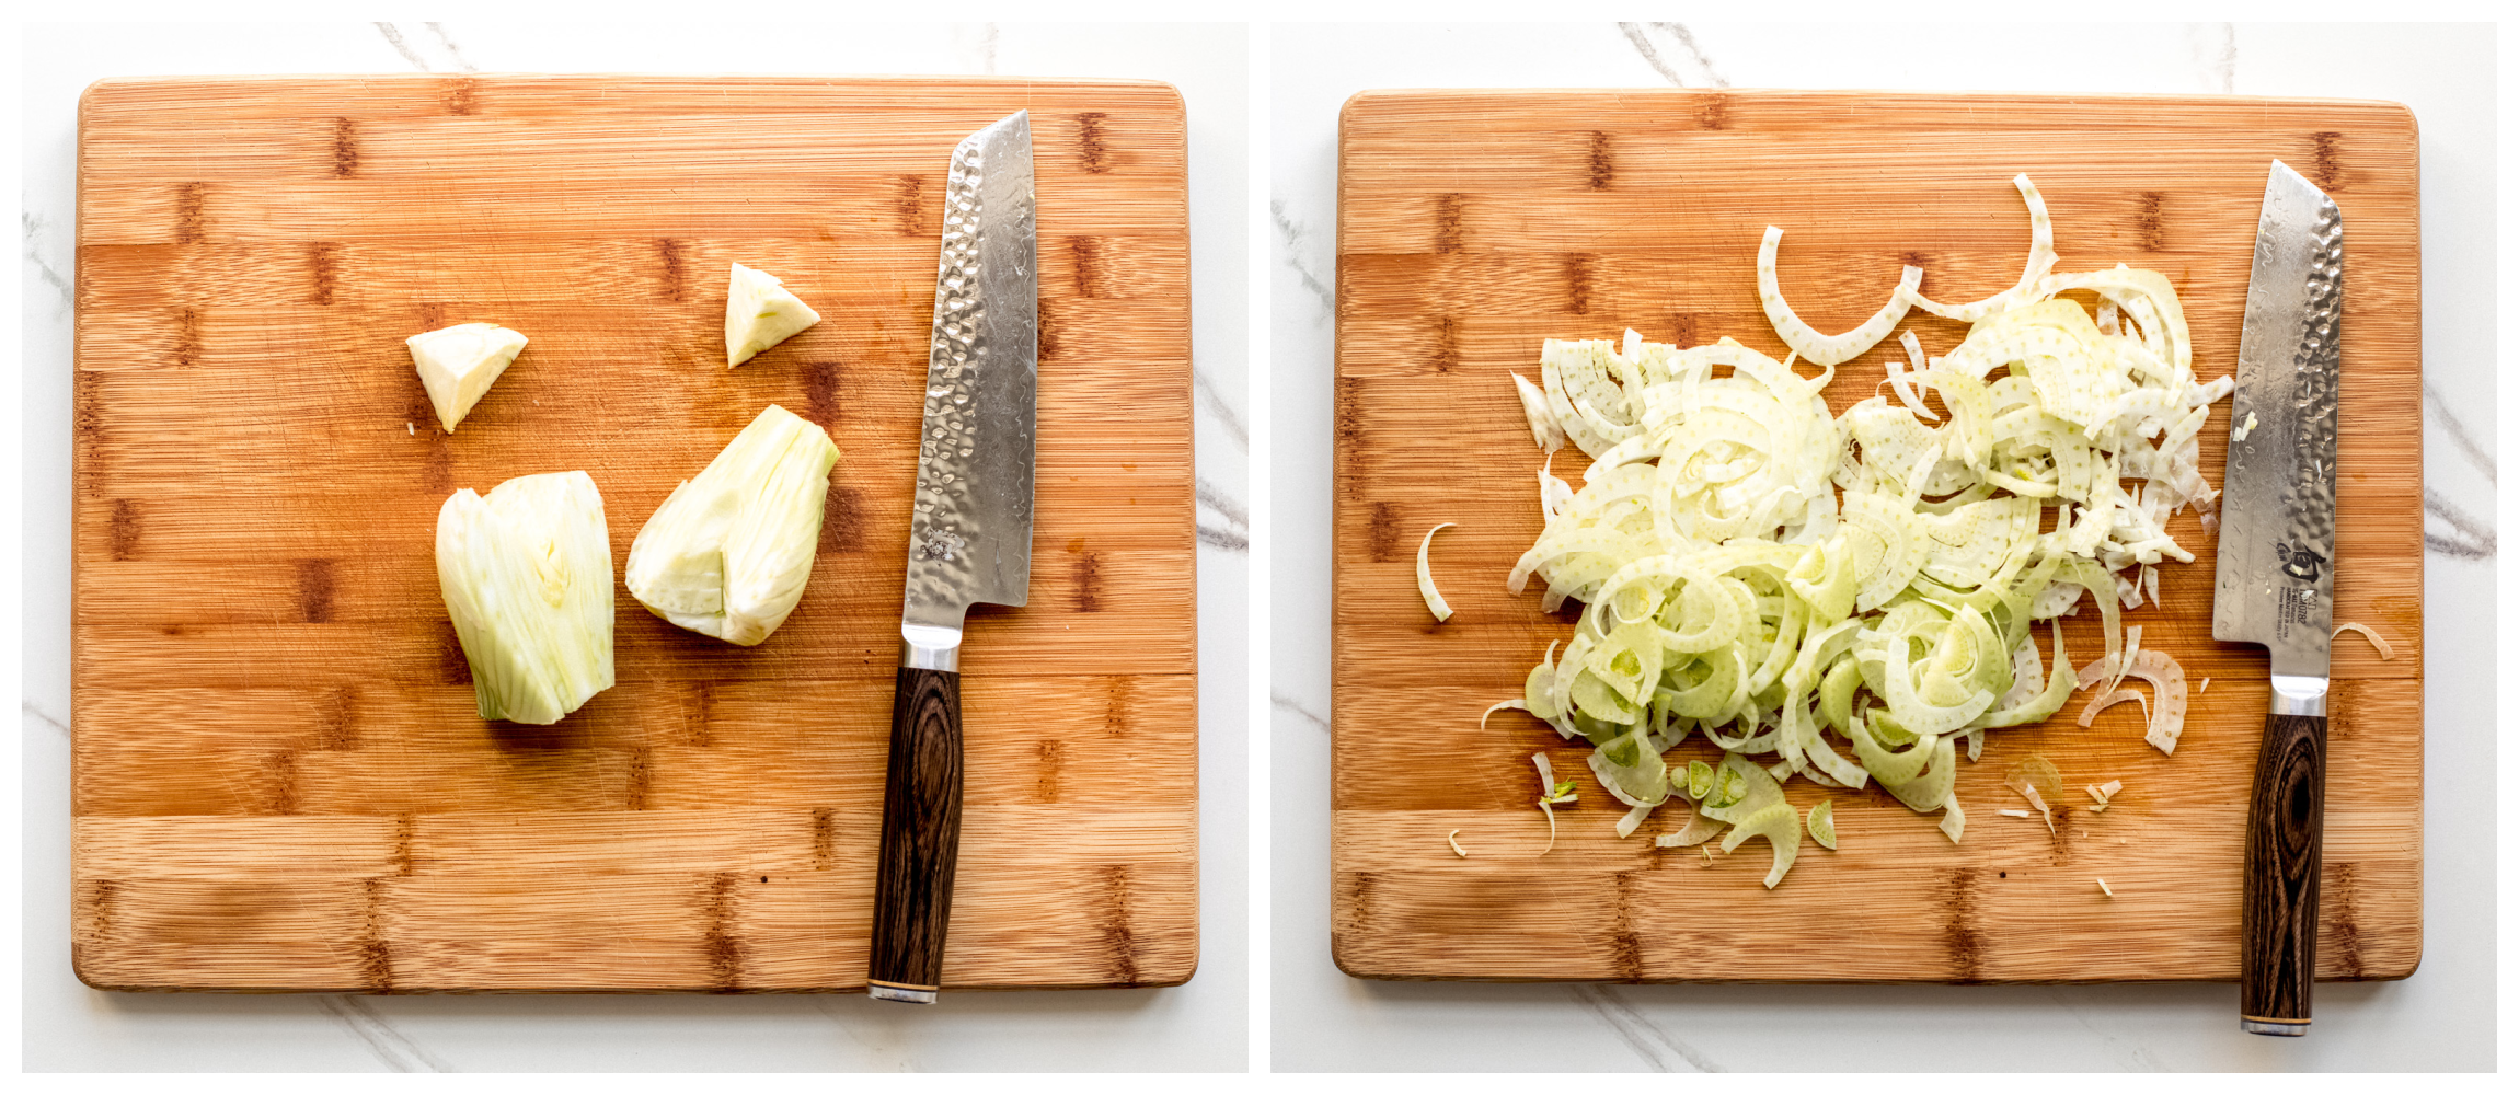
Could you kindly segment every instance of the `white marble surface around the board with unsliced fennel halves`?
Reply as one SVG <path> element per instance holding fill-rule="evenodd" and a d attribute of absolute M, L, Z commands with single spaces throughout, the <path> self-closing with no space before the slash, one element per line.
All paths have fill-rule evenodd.
<path fill-rule="evenodd" d="M 1199 972 L 1179 989 L 950 997 L 202 997 L 71 977 L 71 227 L 76 101 L 176 73 L 1123 76 L 1189 103 L 1199 473 Z M 1242 1070 L 1247 33 L 1239 25 L 340 23 L 25 30 L 28 1070 Z"/>

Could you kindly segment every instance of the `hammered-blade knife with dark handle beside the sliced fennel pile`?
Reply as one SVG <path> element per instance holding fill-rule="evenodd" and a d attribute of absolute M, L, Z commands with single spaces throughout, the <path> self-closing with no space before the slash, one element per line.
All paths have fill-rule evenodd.
<path fill-rule="evenodd" d="M 2262 642 L 2275 675 L 2239 906 L 2239 1027 L 2252 1035 L 2307 1035 L 2317 977 L 2343 305 L 2343 214 L 2277 159 L 2247 274 L 2212 597 L 2212 637 Z"/>

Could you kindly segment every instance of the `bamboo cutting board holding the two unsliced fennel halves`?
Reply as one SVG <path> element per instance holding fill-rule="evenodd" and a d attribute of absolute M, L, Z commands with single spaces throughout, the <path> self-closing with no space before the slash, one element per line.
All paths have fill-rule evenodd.
<path fill-rule="evenodd" d="M 1197 967 L 1189 222 L 1159 83 L 108 81 L 81 103 L 76 967 L 113 989 L 861 989 L 945 159 L 1038 141 L 1038 526 L 965 644 L 947 987 Z M 824 322 L 738 370 L 728 262 Z M 403 337 L 532 345 L 458 433 Z M 763 405 L 841 448 L 804 604 L 617 592 L 484 722 L 456 488 L 584 468 L 615 569 Z M 408 425 L 406 425 L 408 423 Z"/>

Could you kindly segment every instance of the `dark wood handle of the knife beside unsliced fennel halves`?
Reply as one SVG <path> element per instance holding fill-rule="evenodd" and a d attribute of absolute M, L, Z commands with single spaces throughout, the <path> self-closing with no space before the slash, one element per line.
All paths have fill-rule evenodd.
<path fill-rule="evenodd" d="M 904 665 L 892 680 L 892 760 L 884 763 L 884 841 L 867 957 L 867 982 L 879 997 L 932 1004 L 945 984 L 960 843 L 962 675 Z"/>

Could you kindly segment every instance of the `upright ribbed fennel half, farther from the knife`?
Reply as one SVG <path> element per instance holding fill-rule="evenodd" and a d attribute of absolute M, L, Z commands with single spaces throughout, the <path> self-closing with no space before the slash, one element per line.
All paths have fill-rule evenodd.
<path fill-rule="evenodd" d="M 612 536 L 584 471 L 448 496 L 438 594 L 484 720 L 559 722 L 612 687 Z"/>

